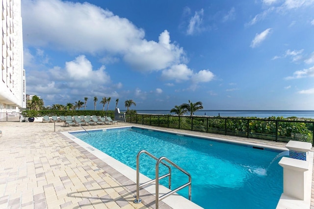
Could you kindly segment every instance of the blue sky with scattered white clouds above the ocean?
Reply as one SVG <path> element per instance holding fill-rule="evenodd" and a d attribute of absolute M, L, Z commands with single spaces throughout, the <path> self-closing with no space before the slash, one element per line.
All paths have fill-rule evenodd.
<path fill-rule="evenodd" d="M 314 0 L 22 0 L 26 93 L 97 109 L 314 109 Z"/>

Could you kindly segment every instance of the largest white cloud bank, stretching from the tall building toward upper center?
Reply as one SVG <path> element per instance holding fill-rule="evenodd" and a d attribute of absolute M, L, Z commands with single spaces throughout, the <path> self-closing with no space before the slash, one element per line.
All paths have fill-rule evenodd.
<path fill-rule="evenodd" d="M 171 43 L 167 30 L 159 41 L 144 39 L 145 32 L 125 18 L 90 3 L 61 0 L 23 0 L 24 44 L 79 54 L 106 52 L 103 63 L 119 57 L 135 70 L 166 69 L 186 62 L 182 47 Z"/>

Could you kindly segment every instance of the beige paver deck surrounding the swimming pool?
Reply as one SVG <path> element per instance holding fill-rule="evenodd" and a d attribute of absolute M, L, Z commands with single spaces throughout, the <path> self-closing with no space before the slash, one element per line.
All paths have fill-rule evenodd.
<path fill-rule="evenodd" d="M 84 128 L 88 130 L 128 125 L 134 124 L 119 122 L 115 125 L 90 125 Z M 56 122 L 55 126 L 49 122 L 1 122 L 0 130 L 1 209 L 155 208 L 155 196 L 143 189 L 140 192 L 143 202 L 134 204 L 136 186 L 133 181 L 60 133 L 81 131 L 81 127 L 64 127 L 63 122 Z M 263 146 L 283 148 L 286 145 L 266 140 L 167 130 Z M 171 207 L 161 201 L 159 208 Z M 314 209 L 313 181 L 311 209 Z"/>

